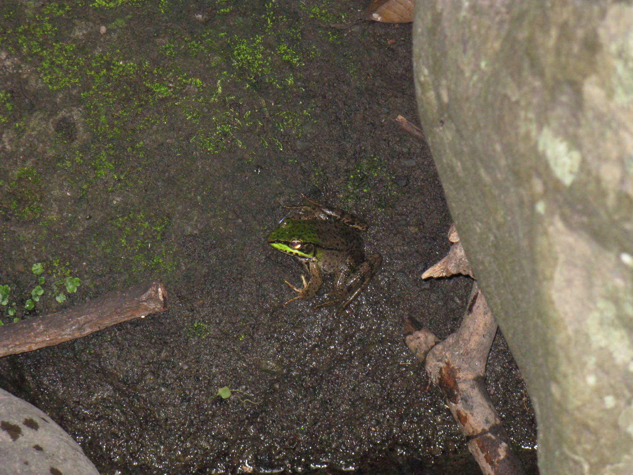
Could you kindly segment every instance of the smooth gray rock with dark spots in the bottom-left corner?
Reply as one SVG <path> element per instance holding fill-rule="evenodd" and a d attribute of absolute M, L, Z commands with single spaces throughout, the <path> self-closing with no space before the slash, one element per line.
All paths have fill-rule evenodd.
<path fill-rule="evenodd" d="M 64 429 L 4 390 L 0 390 L 0 429 L 0 475 L 99 475 Z"/>

